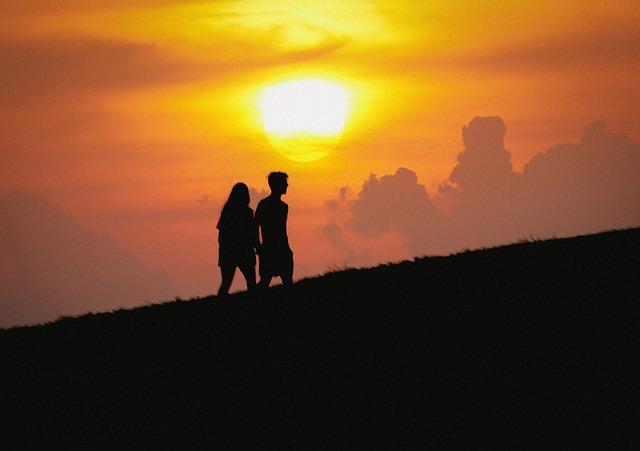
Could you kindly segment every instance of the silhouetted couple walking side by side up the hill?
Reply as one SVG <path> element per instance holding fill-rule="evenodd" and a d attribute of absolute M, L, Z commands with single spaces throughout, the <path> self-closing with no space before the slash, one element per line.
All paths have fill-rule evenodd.
<path fill-rule="evenodd" d="M 249 207 L 249 188 L 236 183 L 218 221 L 218 266 L 222 284 L 218 295 L 227 294 L 236 268 L 247 281 L 247 290 L 266 288 L 274 277 L 283 285 L 293 283 L 293 252 L 287 237 L 289 206 L 281 199 L 289 183 L 284 172 L 269 174 L 271 194 L 262 199 L 255 217 Z M 260 240 L 260 236 L 262 240 Z M 260 258 L 260 282 L 256 284 L 256 253 Z"/>

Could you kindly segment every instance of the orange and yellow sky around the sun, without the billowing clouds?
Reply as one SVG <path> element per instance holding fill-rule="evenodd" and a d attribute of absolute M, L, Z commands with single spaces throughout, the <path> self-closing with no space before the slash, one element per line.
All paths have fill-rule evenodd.
<path fill-rule="evenodd" d="M 238 181 L 260 192 L 268 172 L 289 174 L 300 279 L 412 257 L 404 229 L 341 236 L 366 258 L 329 245 L 325 226 L 350 212 L 327 202 L 349 187 L 349 205 L 371 173 L 402 167 L 447 206 L 438 187 L 476 116 L 504 120 L 516 172 L 594 121 L 640 142 L 635 0 L 23 3 L 0 0 L 0 196 L 41 196 L 161 268 L 171 288 L 149 301 L 215 292 L 215 222 Z M 352 95 L 341 143 L 311 163 L 271 148 L 257 107 L 264 87 L 304 77 Z M 0 255 L 3 289 L 15 291 L 17 257 Z"/>

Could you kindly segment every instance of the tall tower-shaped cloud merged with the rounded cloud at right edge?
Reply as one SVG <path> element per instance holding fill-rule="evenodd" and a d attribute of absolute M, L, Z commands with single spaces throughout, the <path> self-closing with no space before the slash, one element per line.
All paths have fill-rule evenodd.
<path fill-rule="evenodd" d="M 640 145 L 588 126 L 578 144 L 511 168 L 500 118 L 475 118 L 449 181 L 459 189 L 452 219 L 466 240 L 491 245 L 537 235 L 575 235 L 640 225 Z"/>

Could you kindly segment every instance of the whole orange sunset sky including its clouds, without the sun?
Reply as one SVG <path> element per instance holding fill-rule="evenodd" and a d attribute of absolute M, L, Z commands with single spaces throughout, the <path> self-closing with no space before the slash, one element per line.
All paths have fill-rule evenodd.
<path fill-rule="evenodd" d="M 637 0 L 0 0 L 0 327 L 215 293 L 222 205 L 270 171 L 294 280 L 640 226 L 638 23 Z M 308 78 L 350 103 L 298 162 L 258 99 Z"/>

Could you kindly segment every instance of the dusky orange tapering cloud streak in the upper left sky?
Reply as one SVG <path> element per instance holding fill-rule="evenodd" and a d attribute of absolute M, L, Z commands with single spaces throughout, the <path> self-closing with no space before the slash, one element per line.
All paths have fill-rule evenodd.
<path fill-rule="evenodd" d="M 68 103 L 87 94 L 204 78 L 153 44 L 88 37 L 0 40 L 0 102 Z M 211 77 L 211 73 L 206 74 Z"/>

